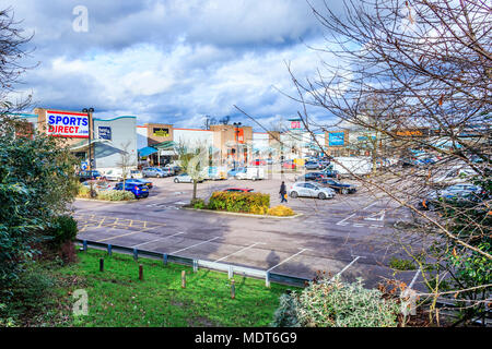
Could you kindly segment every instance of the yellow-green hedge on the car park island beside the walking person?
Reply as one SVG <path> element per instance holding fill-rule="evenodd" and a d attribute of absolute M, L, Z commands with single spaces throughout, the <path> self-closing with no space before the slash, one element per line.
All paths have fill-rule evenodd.
<path fill-rule="evenodd" d="M 266 212 L 269 207 L 270 195 L 261 193 L 214 192 L 208 204 L 209 209 L 248 214 L 256 213 L 259 209 Z"/>

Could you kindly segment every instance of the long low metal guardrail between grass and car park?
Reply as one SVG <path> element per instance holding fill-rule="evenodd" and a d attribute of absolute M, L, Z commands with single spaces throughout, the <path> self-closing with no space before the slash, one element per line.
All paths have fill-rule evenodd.
<path fill-rule="evenodd" d="M 120 246 L 120 245 L 114 245 L 110 243 L 104 243 L 104 242 L 96 242 L 96 241 L 89 241 L 89 240 L 81 240 L 77 239 L 77 243 L 81 244 L 84 250 L 87 249 L 87 246 L 92 246 L 98 250 L 107 250 L 108 252 L 117 251 L 122 252 L 125 254 L 132 254 L 134 258 L 138 258 L 138 256 L 145 256 L 150 257 L 152 260 L 162 260 L 164 263 L 172 262 L 176 264 L 192 266 L 194 268 L 202 267 L 207 269 L 213 269 L 218 272 L 225 272 L 229 273 L 229 277 L 232 277 L 234 274 L 242 275 L 242 276 L 248 276 L 253 278 L 259 278 L 265 279 L 265 284 L 267 287 L 270 286 L 270 282 L 277 282 L 277 284 L 284 284 L 290 286 L 297 286 L 297 287 L 304 287 L 306 282 L 311 281 L 308 278 L 302 278 L 285 274 L 279 274 L 279 273 L 271 273 L 263 269 L 257 269 L 241 265 L 234 265 L 230 263 L 220 263 L 220 262 L 212 262 L 207 260 L 196 260 L 190 257 L 185 257 L 180 255 L 173 255 L 167 253 L 160 253 L 154 251 L 147 251 L 147 250 L 140 250 L 140 249 L 133 249 L 133 248 L 127 248 L 127 246 Z"/>

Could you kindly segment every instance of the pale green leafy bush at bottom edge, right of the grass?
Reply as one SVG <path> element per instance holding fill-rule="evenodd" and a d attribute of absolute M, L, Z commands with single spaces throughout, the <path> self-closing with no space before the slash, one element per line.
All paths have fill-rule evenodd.
<path fill-rule="evenodd" d="M 301 293 L 280 300 L 273 326 L 390 327 L 398 324 L 397 300 L 384 299 L 378 290 L 365 289 L 362 280 L 341 282 L 326 278 L 311 282 Z"/>

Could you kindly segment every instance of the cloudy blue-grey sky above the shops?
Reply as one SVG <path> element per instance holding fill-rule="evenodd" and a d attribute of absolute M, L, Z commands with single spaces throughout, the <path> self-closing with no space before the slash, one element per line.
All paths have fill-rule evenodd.
<path fill-rule="evenodd" d="M 198 128 L 206 115 L 251 124 L 233 105 L 266 125 L 288 119 L 300 106 L 278 91 L 295 94 L 285 62 L 303 79 L 329 59 L 307 47 L 324 39 L 305 0 L 0 3 L 34 33 L 31 60 L 39 65 L 20 89 L 35 106 L 94 107 L 97 117 L 131 115 L 139 124 Z M 87 9 L 86 32 L 79 5 Z"/>

